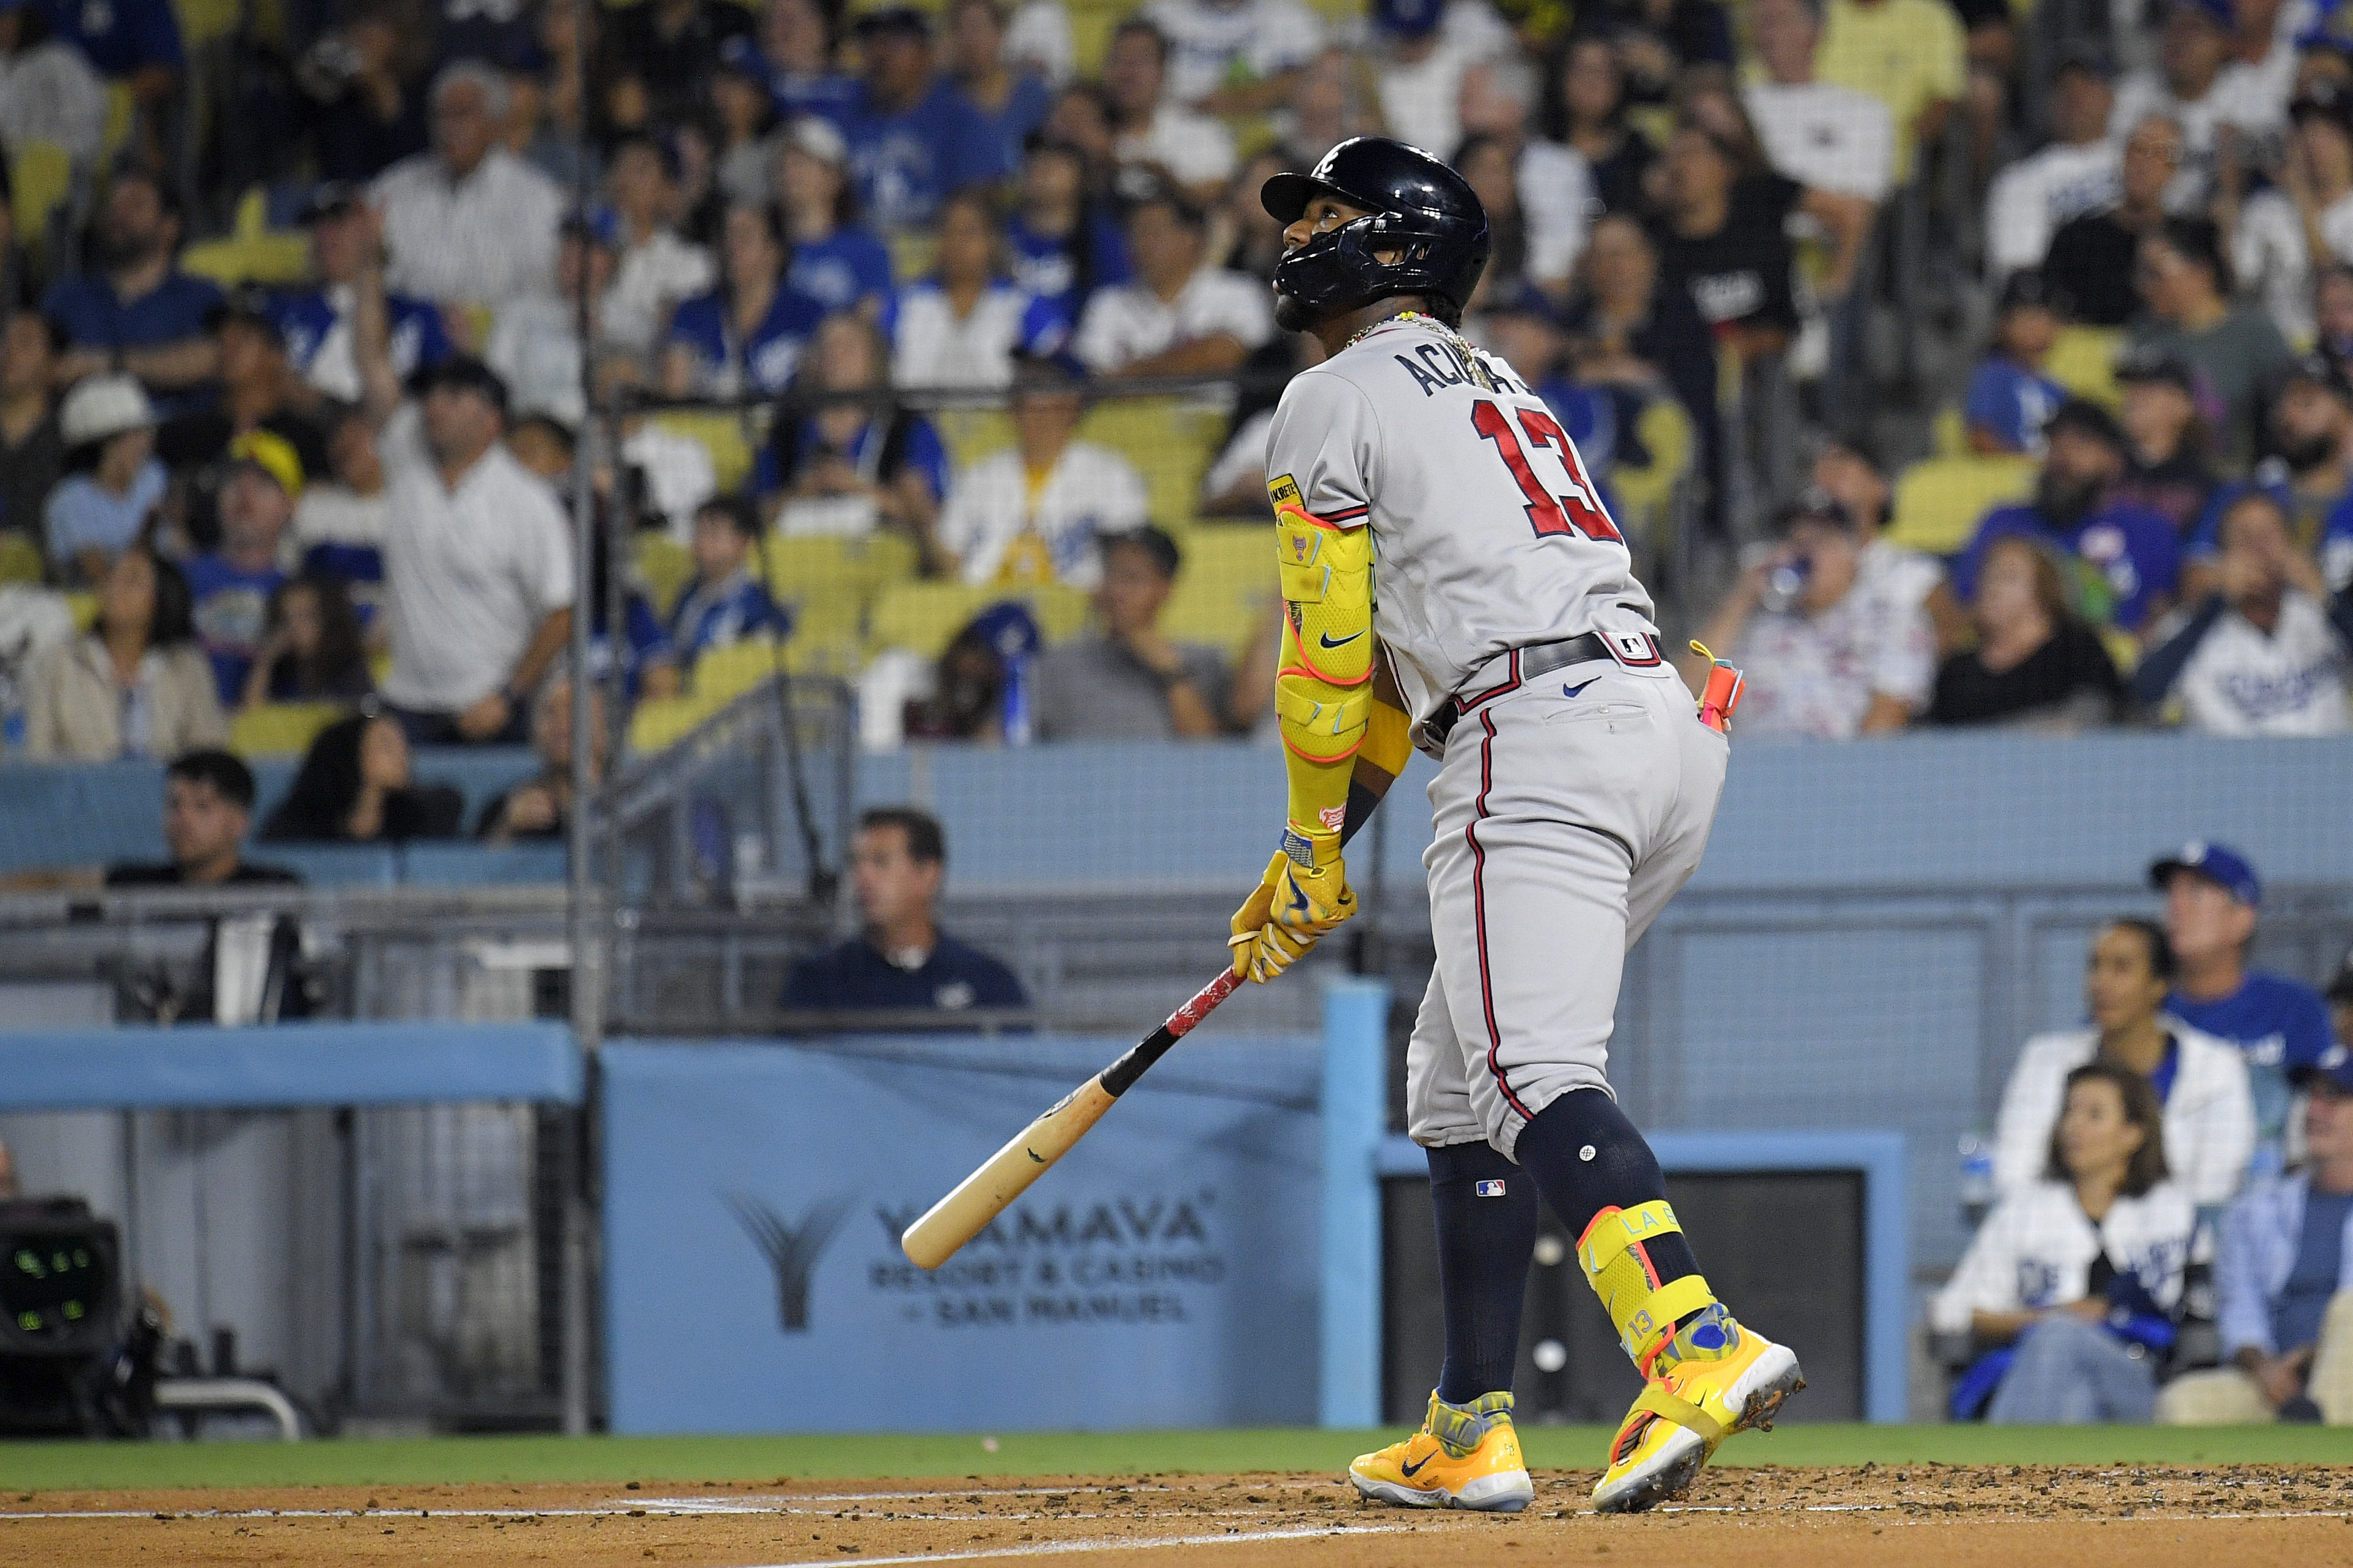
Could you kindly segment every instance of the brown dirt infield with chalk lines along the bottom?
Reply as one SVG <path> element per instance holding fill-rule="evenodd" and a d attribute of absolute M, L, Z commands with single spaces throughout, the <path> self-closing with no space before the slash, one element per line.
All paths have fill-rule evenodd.
<path fill-rule="evenodd" d="M 767 1568 L 1056 1556 L 1426 1568 L 1466 1552 L 1762 1563 L 2353 1563 L 2353 1469 L 1718 1469 L 1678 1507 L 1584 1512 L 1546 1472 L 1518 1519 L 1367 1507 L 1332 1476 L 1038 1483 L 402 1486 L 0 1495 L 0 1563 Z M 1661 1540 L 1664 1537 L 1664 1540 Z M 1501 1559 L 1520 1561 L 1520 1559 Z"/>

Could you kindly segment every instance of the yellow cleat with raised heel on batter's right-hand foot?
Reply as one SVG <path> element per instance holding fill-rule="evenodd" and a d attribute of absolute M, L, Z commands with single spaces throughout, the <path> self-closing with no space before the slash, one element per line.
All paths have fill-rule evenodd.
<path fill-rule="evenodd" d="M 1602 1514 L 1640 1514 L 1692 1488 L 1699 1467 L 1734 1432 L 1772 1429 L 1781 1401 L 1805 1387 L 1798 1356 L 1722 1307 L 1708 1307 L 1659 1349 L 1649 1387 L 1609 1443 L 1609 1469 L 1593 1488 Z"/>

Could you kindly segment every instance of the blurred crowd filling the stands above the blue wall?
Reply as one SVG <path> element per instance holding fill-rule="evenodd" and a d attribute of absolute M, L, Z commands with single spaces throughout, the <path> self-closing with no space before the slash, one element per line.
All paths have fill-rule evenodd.
<path fill-rule="evenodd" d="M 1746 665 L 1744 736 L 2344 731 L 2353 14 L 2054 16 L 336 0 L 198 49 L 169 0 L 0 7 L 7 745 L 174 757 L 282 703 L 522 743 L 576 458 L 584 527 L 668 562 L 588 609 L 631 701 L 821 621 L 868 743 L 1247 733 L 1271 623 L 1160 609 L 1264 510 L 1313 353 L 1257 188 L 1374 129 L 1482 193 L 1466 329 Z M 1219 376 L 1144 404 L 1219 425 L 1174 491 L 1096 440 Z M 967 592 L 845 630 L 779 538 Z"/>

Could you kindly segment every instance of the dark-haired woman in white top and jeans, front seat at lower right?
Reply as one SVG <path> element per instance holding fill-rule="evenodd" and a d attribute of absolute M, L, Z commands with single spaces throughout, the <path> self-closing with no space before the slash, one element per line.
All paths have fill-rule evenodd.
<path fill-rule="evenodd" d="M 2042 1178 L 1986 1215 L 1929 1300 L 1934 1331 L 2000 1347 L 1962 1378 L 1955 1413 L 1974 1413 L 1967 1389 L 1993 1378 L 1993 1422 L 2146 1422 L 2155 1413 L 2155 1361 L 2172 1345 L 2195 1225 L 2188 1194 L 2165 1180 L 2158 1124 L 2158 1095 L 2141 1074 L 2115 1063 L 2066 1074 Z"/>

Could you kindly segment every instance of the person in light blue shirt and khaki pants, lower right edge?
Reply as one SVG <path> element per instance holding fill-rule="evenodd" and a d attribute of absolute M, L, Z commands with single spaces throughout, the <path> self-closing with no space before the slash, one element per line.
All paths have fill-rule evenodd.
<path fill-rule="evenodd" d="M 2294 1072 L 2304 1168 L 2224 1213 L 2214 1260 L 2224 1366 L 2158 1396 L 2172 1425 L 2353 1425 L 2353 1053 L 2329 1044 Z"/>

